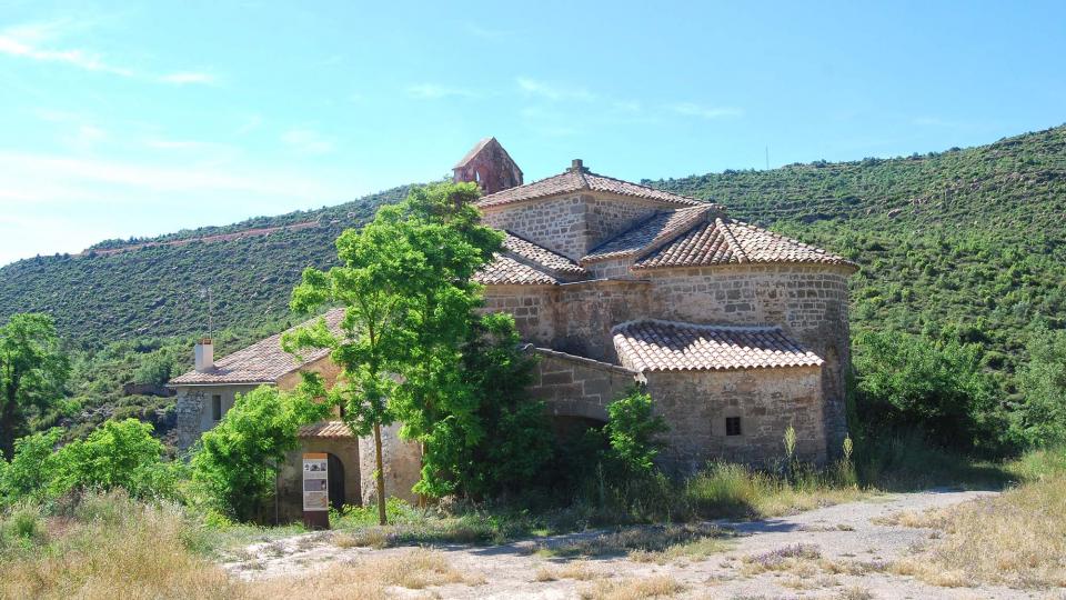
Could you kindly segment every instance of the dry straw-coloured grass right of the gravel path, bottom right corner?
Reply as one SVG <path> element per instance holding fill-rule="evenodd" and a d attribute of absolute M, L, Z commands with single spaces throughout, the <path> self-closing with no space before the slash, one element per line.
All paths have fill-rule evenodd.
<path fill-rule="evenodd" d="M 947 510 L 899 517 L 946 536 L 894 570 L 944 587 L 1066 586 L 1066 476 Z"/>

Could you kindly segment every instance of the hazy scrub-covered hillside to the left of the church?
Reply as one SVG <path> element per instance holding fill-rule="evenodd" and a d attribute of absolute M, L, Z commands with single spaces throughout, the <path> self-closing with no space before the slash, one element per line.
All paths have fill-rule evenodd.
<path fill-rule="evenodd" d="M 330 209 L 187 231 L 181 237 L 319 221 L 320 226 L 309 229 L 110 256 L 90 252 L 79 258 L 22 260 L 0 269 L 0 321 L 14 312 L 49 312 L 63 336 L 89 348 L 142 337 L 204 333 L 208 301 L 201 290 L 205 287 L 212 291 L 215 330 L 278 321 L 288 317 L 289 296 L 300 272 L 308 266 L 326 267 L 336 256 L 333 240 L 344 228 L 362 224 L 379 206 L 402 199 L 406 190 L 394 188 Z"/>

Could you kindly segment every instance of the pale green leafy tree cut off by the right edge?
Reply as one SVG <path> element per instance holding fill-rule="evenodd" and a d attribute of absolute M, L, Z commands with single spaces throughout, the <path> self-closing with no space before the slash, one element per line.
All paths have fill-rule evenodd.
<path fill-rule="evenodd" d="M 1027 350 L 1029 362 L 1018 373 L 1024 400 L 1017 434 L 1029 446 L 1066 444 L 1066 331 L 1037 331 Z"/>

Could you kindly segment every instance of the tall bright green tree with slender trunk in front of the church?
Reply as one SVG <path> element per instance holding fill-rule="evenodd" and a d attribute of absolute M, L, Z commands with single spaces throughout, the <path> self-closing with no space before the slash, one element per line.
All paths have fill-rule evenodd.
<path fill-rule="evenodd" d="M 479 223 L 473 184 L 414 190 L 384 207 L 363 229 L 336 240 L 341 266 L 308 269 L 292 308 L 345 307 L 336 331 L 324 320 L 286 336 L 285 348 L 329 348 L 341 367 L 331 403 L 345 407 L 356 436 L 373 433 L 379 519 L 385 522 L 381 427 L 401 420 L 405 437 L 425 441 L 452 419 L 464 443 L 480 439 L 476 398 L 463 378 L 462 344 L 480 303 L 473 274 L 500 248 L 502 234 Z"/>

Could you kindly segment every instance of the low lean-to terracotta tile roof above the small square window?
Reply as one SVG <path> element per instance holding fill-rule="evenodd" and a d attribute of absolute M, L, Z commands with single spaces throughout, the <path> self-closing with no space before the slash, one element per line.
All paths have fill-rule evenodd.
<path fill-rule="evenodd" d="M 817 367 L 822 359 L 777 327 L 635 321 L 615 327 L 614 348 L 636 371 L 723 371 Z"/>

